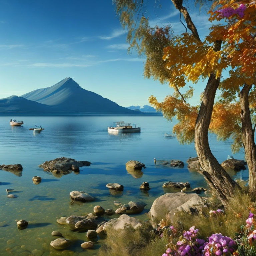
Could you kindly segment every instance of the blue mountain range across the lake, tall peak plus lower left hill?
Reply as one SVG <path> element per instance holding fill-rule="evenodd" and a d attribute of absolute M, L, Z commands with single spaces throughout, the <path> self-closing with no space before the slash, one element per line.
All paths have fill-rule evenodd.
<path fill-rule="evenodd" d="M 139 114 L 80 87 L 68 77 L 57 84 L 0 99 L 0 112 Z"/>

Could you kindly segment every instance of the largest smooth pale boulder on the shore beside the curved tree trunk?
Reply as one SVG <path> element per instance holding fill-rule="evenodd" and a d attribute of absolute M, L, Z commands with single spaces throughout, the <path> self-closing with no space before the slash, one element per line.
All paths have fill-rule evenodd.
<path fill-rule="evenodd" d="M 186 212 L 200 211 L 203 205 L 204 203 L 198 194 L 166 193 L 153 202 L 148 216 L 153 225 L 159 223 L 161 219 L 171 223 L 176 212 L 181 210 Z"/>

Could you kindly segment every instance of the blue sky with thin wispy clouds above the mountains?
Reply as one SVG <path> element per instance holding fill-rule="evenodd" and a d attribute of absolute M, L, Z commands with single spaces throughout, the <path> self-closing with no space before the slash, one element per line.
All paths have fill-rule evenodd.
<path fill-rule="evenodd" d="M 145 1 L 144 1 L 145 2 Z M 170 0 L 148 1 L 145 15 L 151 25 L 171 23 L 185 29 Z M 193 1 L 192 1 L 193 2 Z M 207 9 L 207 7 L 206 7 Z M 191 17 L 200 36 L 210 23 L 203 8 Z M 121 106 L 163 100 L 173 91 L 143 77 L 143 58 L 127 54 L 126 33 L 111 0 L 0 0 L 0 98 L 22 95 L 72 77 L 81 87 Z M 194 102 L 205 83 L 198 83 Z"/>

